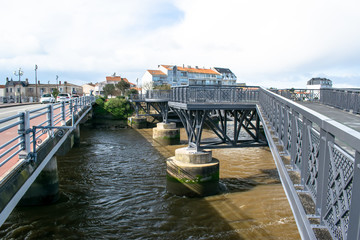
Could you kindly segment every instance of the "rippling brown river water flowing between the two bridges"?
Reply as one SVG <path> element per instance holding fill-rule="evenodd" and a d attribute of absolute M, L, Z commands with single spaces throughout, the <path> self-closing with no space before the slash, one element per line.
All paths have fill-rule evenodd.
<path fill-rule="evenodd" d="M 181 132 L 182 143 L 185 133 Z M 223 192 L 166 192 L 166 158 L 152 129 L 81 129 L 58 157 L 60 200 L 18 207 L 1 239 L 300 239 L 267 147 L 213 150 Z"/>

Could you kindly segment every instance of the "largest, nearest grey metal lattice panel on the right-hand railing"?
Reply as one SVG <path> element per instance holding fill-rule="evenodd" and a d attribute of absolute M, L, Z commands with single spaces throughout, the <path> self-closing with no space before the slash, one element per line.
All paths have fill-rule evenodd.
<path fill-rule="evenodd" d="M 354 158 L 337 145 L 329 143 L 329 184 L 324 220 L 337 239 L 346 239 L 354 173 Z"/>

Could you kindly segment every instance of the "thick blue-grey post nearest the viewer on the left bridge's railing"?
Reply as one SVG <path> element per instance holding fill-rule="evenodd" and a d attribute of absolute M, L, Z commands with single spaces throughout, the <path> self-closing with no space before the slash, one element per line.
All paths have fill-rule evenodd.
<path fill-rule="evenodd" d="M 19 141 L 21 145 L 19 146 L 20 150 L 19 159 L 27 159 L 29 153 L 31 152 L 30 149 L 30 132 L 27 130 L 30 129 L 30 113 L 29 111 L 24 111 L 21 113 L 20 116 L 21 123 L 19 125 L 19 134 L 21 134 L 21 138 Z M 33 133 L 35 134 L 35 133 Z"/>

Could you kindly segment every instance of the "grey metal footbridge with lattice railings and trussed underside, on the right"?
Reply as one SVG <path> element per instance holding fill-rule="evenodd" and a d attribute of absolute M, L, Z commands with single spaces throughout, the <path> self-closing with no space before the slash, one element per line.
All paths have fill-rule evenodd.
<path fill-rule="evenodd" d="M 359 99 L 356 91 L 336 89 L 274 92 L 261 87 L 185 86 L 148 92 L 133 103 L 144 104 L 142 113 L 147 115 L 151 104 L 161 102 L 157 112 L 164 121 L 169 111 L 177 113 L 194 152 L 267 142 L 302 239 L 359 239 L 360 133 L 309 104 L 356 114 Z M 359 124 L 360 118 L 355 119 Z M 217 139 L 204 139 L 204 126 Z M 250 139 L 241 139 L 241 129 Z M 168 175 L 175 171 L 171 168 Z"/>

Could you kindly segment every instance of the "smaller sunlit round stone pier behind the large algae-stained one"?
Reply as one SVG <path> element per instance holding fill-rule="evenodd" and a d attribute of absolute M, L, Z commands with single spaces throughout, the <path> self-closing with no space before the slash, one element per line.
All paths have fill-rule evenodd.
<path fill-rule="evenodd" d="M 153 139 L 162 145 L 176 145 L 180 143 L 180 129 L 176 123 L 158 123 L 153 129 Z"/>

